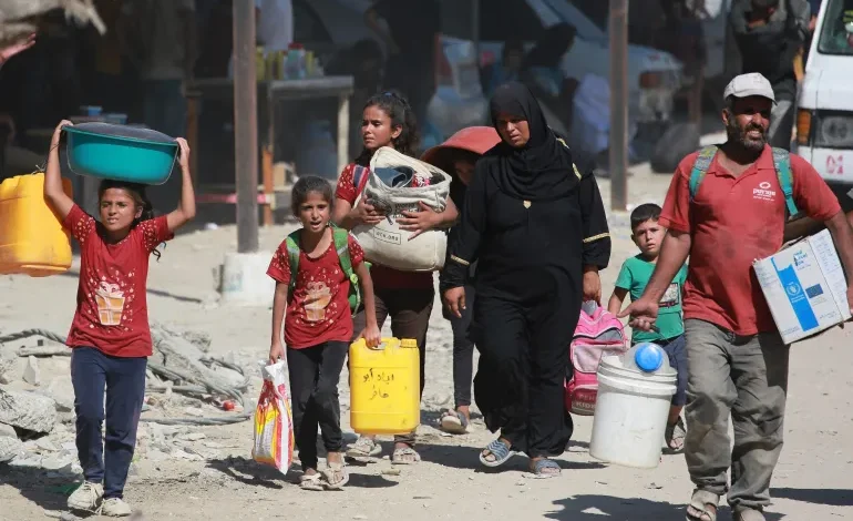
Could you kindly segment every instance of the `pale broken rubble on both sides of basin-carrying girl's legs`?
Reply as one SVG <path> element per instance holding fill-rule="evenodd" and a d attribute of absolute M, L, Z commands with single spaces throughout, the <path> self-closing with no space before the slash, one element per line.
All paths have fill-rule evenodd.
<path fill-rule="evenodd" d="M 71 349 L 61 337 L 39 333 L 25 338 L 0 335 L 0 466 L 73 477 L 82 469 L 74 445 Z M 243 369 L 253 365 L 249 356 L 213 358 L 209 336 L 164 325 L 152 325 L 152 339 L 137 458 L 217 458 L 230 447 L 208 440 L 197 427 L 250 418 L 253 406 L 246 406 L 244 394 L 251 382 Z"/>

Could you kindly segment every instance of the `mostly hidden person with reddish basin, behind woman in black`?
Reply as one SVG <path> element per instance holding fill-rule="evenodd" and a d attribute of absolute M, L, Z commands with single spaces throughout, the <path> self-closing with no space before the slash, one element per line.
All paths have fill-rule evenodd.
<path fill-rule="evenodd" d="M 453 176 L 450 185 L 450 198 L 461 207 L 465 201 L 465 191 L 474 175 L 474 165 L 483 154 L 501 142 L 501 136 L 491 126 L 470 126 L 453 134 L 448 141 L 433 146 L 421 156 L 421 161 L 430 163 Z M 451 229 L 451 237 L 453 229 Z M 439 420 L 439 427 L 451 435 L 464 435 L 471 425 L 471 378 L 474 372 L 474 343 L 469 337 L 471 326 L 471 308 L 474 305 L 474 272 L 469 270 L 465 283 L 467 306 L 458 317 L 444 309 L 444 318 L 450 320 L 453 328 L 453 400 L 454 408 L 444 411 Z"/>

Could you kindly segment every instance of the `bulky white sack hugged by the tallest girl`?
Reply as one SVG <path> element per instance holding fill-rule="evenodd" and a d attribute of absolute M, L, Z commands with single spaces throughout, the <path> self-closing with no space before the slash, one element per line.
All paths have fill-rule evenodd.
<path fill-rule="evenodd" d="M 428 177 L 436 175 L 442 181 L 429 186 L 392 187 L 371 173 L 362 196 L 382 208 L 387 218 L 376 225 L 358 225 L 352 229 L 352 235 L 371 263 L 402 272 L 441 269 L 444 266 L 444 255 L 448 249 L 448 231 L 430 229 L 410 241 L 409 237 L 413 232 L 400 229 L 397 218 L 402 215 L 402 212 L 420 211 L 419 203 L 430 206 L 435 212 L 443 212 L 450 195 L 450 175 L 441 168 L 403 155 L 389 146 L 379 149 L 370 161 L 371 172 L 383 166 L 408 166 Z"/>

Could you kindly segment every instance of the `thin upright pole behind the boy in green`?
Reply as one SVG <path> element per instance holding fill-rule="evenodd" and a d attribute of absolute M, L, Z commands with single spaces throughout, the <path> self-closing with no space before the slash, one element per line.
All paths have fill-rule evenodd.
<path fill-rule="evenodd" d="M 610 0 L 610 210 L 628 205 L 628 0 Z"/>

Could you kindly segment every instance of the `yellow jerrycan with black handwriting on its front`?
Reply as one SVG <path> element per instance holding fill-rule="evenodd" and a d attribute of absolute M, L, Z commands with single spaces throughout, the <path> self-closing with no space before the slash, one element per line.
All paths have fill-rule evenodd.
<path fill-rule="evenodd" d="M 421 372 L 414 339 L 383 338 L 349 348 L 350 426 L 359 435 L 405 435 L 421 422 Z"/>

